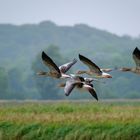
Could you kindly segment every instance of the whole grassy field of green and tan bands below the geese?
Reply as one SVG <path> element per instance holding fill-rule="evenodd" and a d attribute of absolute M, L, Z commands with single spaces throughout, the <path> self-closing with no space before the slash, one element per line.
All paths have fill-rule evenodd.
<path fill-rule="evenodd" d="M 1 101 L 0 140 L 140 140 L 140 101 Z"/>

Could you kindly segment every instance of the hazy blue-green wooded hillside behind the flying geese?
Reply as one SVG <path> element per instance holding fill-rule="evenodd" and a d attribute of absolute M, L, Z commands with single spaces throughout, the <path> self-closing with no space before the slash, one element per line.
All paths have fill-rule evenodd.
<path fill-rule="evenodd" d="M 57 26 L 47 21 L 39 24 L 0 25 L 0 99 L 85 99 L 92 97 L 73 91 L 65 97 L 60 80 L 40 77 L 48 70 L 42 63 L 45 51 L 58 65 L 81 53 L 100 67 L 133 67 L 132 51 L 140 38 L 117 36 L 84 24 Z M 86 69 L 79 61 L 70 72 Z M 99 98 L 140 98 L 140 78 L 132 73 L 111 72 L 105 84 L 94 83 Z M 84 75 L 86 76 L 86 75 Z"/>

